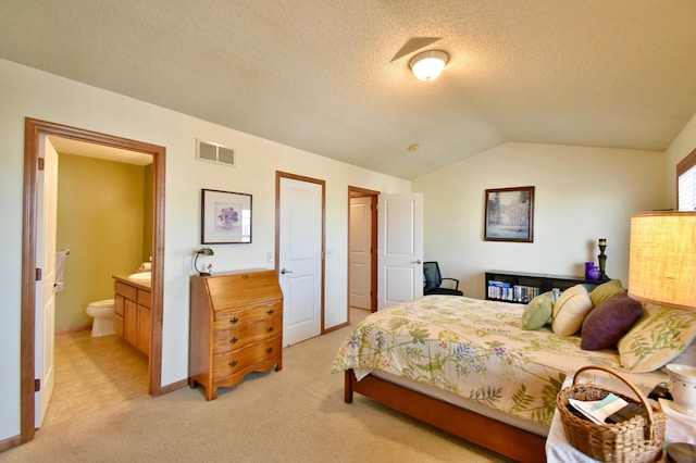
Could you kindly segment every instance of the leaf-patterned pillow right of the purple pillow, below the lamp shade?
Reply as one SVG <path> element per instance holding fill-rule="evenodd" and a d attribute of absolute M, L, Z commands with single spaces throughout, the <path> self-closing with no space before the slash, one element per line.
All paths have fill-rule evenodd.
<path fill-rule="evenodd" d="M 696 338 L 696 312 L 651 303 L 644 309 L 618 345 L 621 365 L 636 373 L 664 366 Z"/>

